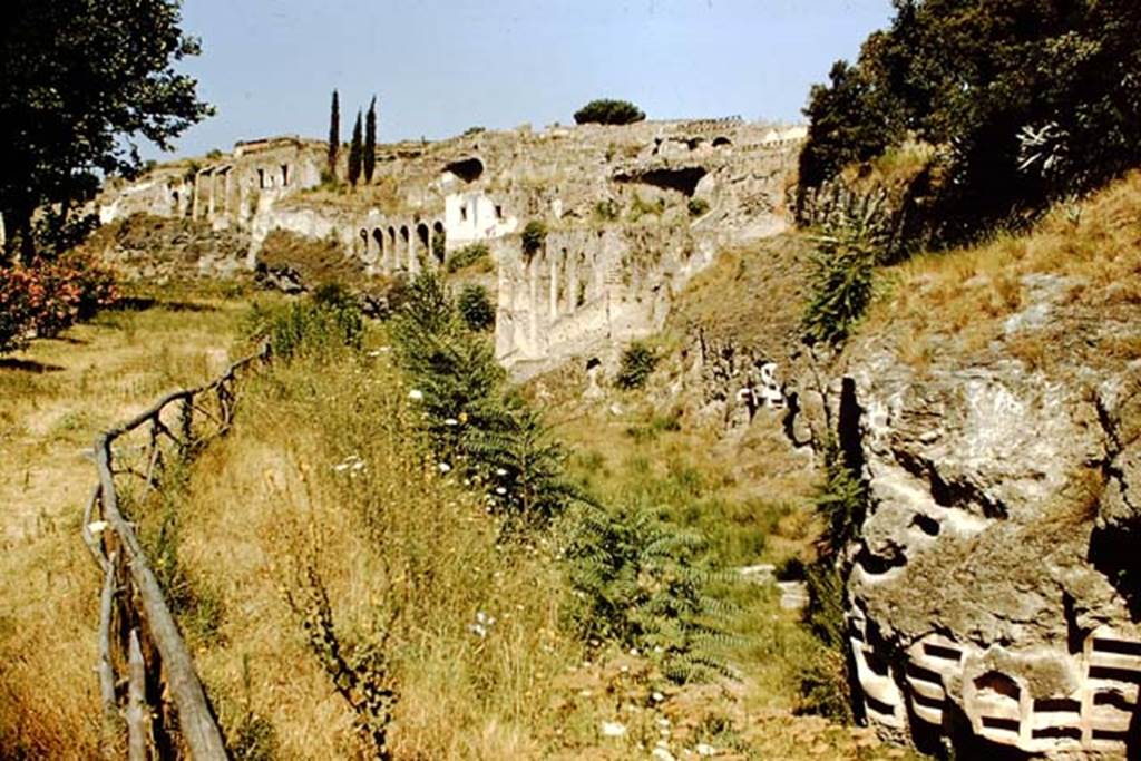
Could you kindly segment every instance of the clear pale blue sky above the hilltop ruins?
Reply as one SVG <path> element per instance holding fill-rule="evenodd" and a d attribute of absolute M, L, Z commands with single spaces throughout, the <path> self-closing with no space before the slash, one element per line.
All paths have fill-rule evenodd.
<path fill-rule="evenodd" d="M 890 15 L 890 0 L 185 0 L 203 54 L 181 68 L 218 115 L 177 153 L 324 138 L 334 87 L 342 139 L 372 94 L 381 140 L 573 123 L 596 97 L 650 119 L 799 121 L 809 86 Z"/>

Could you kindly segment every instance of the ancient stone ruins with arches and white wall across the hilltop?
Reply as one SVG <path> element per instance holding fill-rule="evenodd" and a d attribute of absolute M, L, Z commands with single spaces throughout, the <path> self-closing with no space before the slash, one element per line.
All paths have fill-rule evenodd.
<path fill-rule="evenodd" d="M 496 353 L 525 373 L 654 332 L 718 250 L 785 229 L 803 137 L 739 118 L 476 131 L 379 146 L 382 199 L 330 199 L 325 144 L 274 138 L 159 167 L 97 203 L 104 222 L 145 212 L 240 230 L 250 268 L 274 230 L 333 240 L 366 275 L 414 275 L 486 243 Z M 525 254 L 532 220 L 550 233 Z"/>

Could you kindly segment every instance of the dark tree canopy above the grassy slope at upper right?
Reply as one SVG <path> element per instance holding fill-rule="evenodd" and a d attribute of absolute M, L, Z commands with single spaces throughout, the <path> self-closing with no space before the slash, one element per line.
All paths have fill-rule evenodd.
<path fill-rule="evenodd" d="M 1135 0 L 895 0 L 856 65 L 812 89 L 801 180 L 907 139 L 936 148 L 945 240 L 1141 163 Z"/>

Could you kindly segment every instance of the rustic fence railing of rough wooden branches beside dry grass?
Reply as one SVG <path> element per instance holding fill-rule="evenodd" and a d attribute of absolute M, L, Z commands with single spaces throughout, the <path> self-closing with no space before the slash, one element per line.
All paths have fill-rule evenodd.
<path fill-rule="evenodd" d="M 130 761 L 226 759 L 226 744 L 173 613 L 121 507 L 126 480 L 137 502 L 159 485 L 172 459 L 185 459 L 234 420 L 238 377 L 269 359 L 268 346 L 229 365 L 215 380 L 173 391 L 95 439 L 98 483 L 82 534 L 103 573 L 97 671 L 112 754 L 127 724 Z M 141 440 L 137 440 L 141 439 Z"/>

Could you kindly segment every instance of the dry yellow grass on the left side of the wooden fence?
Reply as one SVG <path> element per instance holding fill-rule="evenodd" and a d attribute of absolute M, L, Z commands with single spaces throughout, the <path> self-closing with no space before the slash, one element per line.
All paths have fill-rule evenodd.
<path fill-rule="evenodd" d="M 225 363 L 240 305 L 105 313 L 0 358 L 0 756 L 95 755 L 98 574 L 79 539 L 97 430 Z"/>

